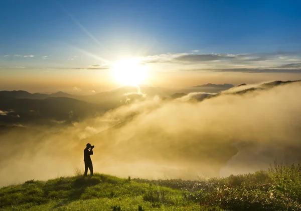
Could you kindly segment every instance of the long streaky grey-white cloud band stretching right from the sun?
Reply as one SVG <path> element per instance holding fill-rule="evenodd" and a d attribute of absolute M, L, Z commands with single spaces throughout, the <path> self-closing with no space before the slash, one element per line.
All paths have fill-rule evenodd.
<path fill-rule="evenodd" d="M 240 72 L 299 72 L 290 70 L 301 61 L 301 51 L 275 51 L 260 53 L 165 53 L 140 57 L 142 62 L 158 71 L 240 71 Z M 180 65 L 185 64 L 185 65 Z M 236 68 L 244 66 L 245 68 Z M 286 69 L 285 69 L 286 68 Z"/>

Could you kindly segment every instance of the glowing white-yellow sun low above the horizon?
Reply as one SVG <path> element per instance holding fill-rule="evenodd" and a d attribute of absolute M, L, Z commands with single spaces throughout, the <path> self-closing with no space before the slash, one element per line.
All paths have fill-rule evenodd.
<path fill-rule="evenodd" d="M 131 58 L 120 60 L 112 65 L 115 80 L 121 85 L 142 84 L 147 77 L 146 64 Z"/>

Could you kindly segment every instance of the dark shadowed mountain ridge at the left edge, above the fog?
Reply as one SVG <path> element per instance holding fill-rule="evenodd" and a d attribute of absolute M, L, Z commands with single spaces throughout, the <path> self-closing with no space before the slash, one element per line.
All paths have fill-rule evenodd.
<path fill-rule="evenodd" d="M 68 97 L 45 99 L 11 98 L 0 95 L 0 124 L 78 121 L 104 112 L 105 108 Z"/>

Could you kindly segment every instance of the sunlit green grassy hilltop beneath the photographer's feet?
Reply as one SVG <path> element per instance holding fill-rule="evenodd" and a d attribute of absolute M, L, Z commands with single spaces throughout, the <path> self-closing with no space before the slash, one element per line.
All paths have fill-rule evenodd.
<path fill-rule="evenodd" d="M 106 174 L 28 180 L 0 189 L 2 210 L 301 210 L 300 165 L 203 180 Z"/>

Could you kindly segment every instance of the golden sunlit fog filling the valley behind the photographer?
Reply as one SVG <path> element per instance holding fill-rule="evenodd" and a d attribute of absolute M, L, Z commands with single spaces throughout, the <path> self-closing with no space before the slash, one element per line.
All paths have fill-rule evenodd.
<path fill-rule="evenodd" d="M 207 99 L 206 93 L 174 100 L 131 94 L 119 107 L 72 125 L 3 131 L 0 185 L 83 171 L 87 142 L 95 145 L 95 172 L 124 177 L 198 179 L 266 169 L 275 160 L 300 162 L 300 82 L 235 94 L 256 86 Z"/>

